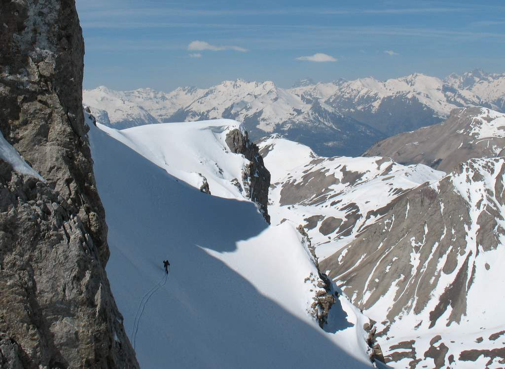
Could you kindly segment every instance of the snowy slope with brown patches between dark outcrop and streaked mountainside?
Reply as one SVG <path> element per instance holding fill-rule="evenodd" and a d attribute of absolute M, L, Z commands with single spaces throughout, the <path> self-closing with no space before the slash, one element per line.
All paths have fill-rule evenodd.
<path fill-rule="evenodd" d="M 445 174 L 384 157 L 319 157 L 278 135 L 259 146 L 272 175 L 272 224 L 302 224 L 322 259 L 354 240 L 396 197 Z"/>

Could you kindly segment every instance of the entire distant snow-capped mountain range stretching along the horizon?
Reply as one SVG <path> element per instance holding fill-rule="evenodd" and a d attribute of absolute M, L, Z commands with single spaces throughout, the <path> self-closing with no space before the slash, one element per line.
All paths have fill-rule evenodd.
<path fill-rule="evenodd" d="M 444 80 L 415 73 L 387 81 L 300 80 L 291 88 L 237 79 L 170 93 L 104 86 L 83 92 L 98 121 L 111 127 L 229 118 L 243 122 L 254 140 L 277 132 L 324 156 L 360 155 L 386 136 L 441 122 L 458 107 L 503 111 L 504 99 L 505 74 L 480 70 Z"/>

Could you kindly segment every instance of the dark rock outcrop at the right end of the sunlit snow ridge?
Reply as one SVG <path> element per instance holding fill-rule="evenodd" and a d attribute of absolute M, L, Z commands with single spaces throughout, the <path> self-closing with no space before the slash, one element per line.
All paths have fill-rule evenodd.
<path fill-rule="evenodd" d="M 246 196 L 258 204 L 263 216 L 270 223 L 270 215 L 268 215 L 270 172 L 263 163 L 258 146 L 249 141 L 247 132 L 242 133 L 238 129 L 234 129 L 226 135 L 226 144 L 231 152 L 242 154 L 249 160 L 250 163 L 242 171 L 244 186 L 249 183 L 249 187 L 245 188 Z"/>

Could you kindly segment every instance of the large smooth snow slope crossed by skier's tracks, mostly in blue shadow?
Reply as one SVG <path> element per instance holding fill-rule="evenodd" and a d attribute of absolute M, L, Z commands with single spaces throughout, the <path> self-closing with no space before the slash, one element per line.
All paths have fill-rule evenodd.
<path fill-rule="evenodd" d="M 268 226 L 250 202 L 201 193 L 92 125 L 89 136 L 109 225 L 107 272 L 131 340 L 138 321 L 142 367 L 370 367 L 354 311 L 347 326 L 358 324 L 341 337 L 362 361 L 305 313 L 300 278 L 315 269 L 290 224 Z M 165 259 L 167 283 L 142 304 Z"/>

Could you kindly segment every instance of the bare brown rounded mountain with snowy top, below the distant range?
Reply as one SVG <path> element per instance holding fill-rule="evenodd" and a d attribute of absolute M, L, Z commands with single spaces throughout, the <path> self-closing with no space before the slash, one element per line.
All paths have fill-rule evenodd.
<path fill-rule="evenodd" d="M 364 155 L 451 171 L 471 158 L 503 156 L 504 148 L 505 114 L 486 108 L 461 108 L 453 110 L 443 123 L 389 137 Z"/>

